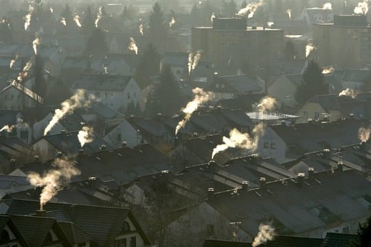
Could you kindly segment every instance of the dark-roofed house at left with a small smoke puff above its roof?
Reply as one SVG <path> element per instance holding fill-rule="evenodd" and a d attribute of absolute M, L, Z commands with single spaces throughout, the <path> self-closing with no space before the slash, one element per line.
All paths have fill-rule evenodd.
<path fill-rule="evenodd" d="M 66 132 L 65 130 L 60 131 L 58 134 L 47 134 L 32 143 L 32 149 L 37 154 L 40 154 L 44 160 L 54 158 L 57 152 L 71 156 L 81 152 L 81 149 L 87 154 L 91 154 L 98 152 L 102 148 L 110 148 L 110 145 L 100 139 L 100 137 L 93 136 L 93 141 L 85 143 L 81 147 L 78 132 Z"/>

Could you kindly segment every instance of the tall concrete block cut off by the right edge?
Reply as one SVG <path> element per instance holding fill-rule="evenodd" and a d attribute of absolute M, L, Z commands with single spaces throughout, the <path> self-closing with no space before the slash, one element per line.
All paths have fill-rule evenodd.
<path fill-rule="evenodd" d="M 371 27 L 364 15 L 335 15 L 334 23 L 313 25 L 321 66 L 360 67 L 371 62 Z"/>

